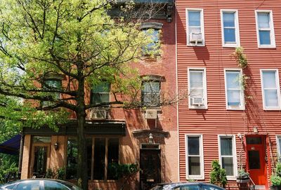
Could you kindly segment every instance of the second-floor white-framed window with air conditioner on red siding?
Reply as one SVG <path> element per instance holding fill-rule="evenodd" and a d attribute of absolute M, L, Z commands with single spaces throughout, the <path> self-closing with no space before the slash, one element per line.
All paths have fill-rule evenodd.
<path fill-rule="evenodd" d="M 188 106 L 207 109 L 207 79 L 205 68 L 188 68 Z"/>

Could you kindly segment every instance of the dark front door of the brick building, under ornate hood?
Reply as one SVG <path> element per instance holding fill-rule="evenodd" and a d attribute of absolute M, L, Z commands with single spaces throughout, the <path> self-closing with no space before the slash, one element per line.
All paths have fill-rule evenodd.
<path fill-rule="evenodd" d="M 161 182 L 161 151 L 160 149 L 141 149 L 141 190 L 150 189 L 153 184 Z"/>

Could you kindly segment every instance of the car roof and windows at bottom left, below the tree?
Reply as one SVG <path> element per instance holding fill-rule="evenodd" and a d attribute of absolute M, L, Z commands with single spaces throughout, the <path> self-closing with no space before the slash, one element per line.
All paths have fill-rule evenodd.
<path fill-rule="evenodd" d="M 0 185 L 1 190 L 82 190 L 78 186 L 58 179 L 22 179 Z"/>

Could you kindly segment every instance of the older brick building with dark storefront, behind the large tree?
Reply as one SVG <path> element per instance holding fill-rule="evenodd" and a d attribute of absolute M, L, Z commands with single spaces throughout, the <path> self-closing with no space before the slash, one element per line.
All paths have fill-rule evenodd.
<path fill-rule="evenodd" d="M 145 1 L 142 1 L 145 2 Z M 163 9 L 153 20 L 143 22 L 141 29 L 161 31 L 161 55 L 155 59 L 138 62 L 143 79 L 142 93 L 145 101 L 150 93 L 147 85 L 153 86 L 159 95 L 164 92 L 176 94 L 176 32 L 174 1 L 157 1 Z M 62 81 L 64 85 L 65 79 Z M 89 87 L 86 101 L 113 100 L 110 85 L 107 88 Z M 105 87 L 103 86 L 103 87 Z M 103 89 L 103 90 L 100 90 Z M 107 90 L 105 90 L 107 89 Z M 155 93 L 155 92 L 154 92 Z M 97 97 L 100 97 L 98 99 Z M 160 98 L 160 95 L 159 95 Z M 148 101 L 148 103 L 150 103 Z M 137 163 L 138 172 L 125 189 L 148 189 L 159 182 L 178 181 L 178 131 L 176 106 L 146 109 L 121 109 L 103 107 L 88 111 L 86 121 L 88 165 L 90 189 L 119 189 L 122 179 L 110 174 L 109 165 L 117 163 Z M 34 175 L 41 177 L 51 168 L 66 168 L 67 179 L 75 179 L 77 167 L 77 140 L 75 118 L 73 122 L 60 127 L 58 133 L 41 128 L 25 128 L 22 147 L 21 178 Z"/>

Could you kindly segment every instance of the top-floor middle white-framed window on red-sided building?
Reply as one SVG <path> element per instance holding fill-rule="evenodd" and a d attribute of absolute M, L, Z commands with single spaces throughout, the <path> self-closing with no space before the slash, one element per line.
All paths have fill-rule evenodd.
<path fill-rule="evenodd" d="M 221 10 L 221 36 L 223 47 L 240 46 L 237 10 Z"/>

